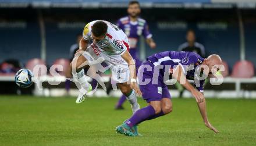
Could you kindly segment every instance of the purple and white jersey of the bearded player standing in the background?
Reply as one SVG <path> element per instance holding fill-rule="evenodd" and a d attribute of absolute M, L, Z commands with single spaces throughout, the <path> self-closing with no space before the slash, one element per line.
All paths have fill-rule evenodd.
<path fill-rule="evenodd" d="M 145 38 L 151 38 L 152 34 L 148 30 L 148 24 L 144 19 L 138 18 L 136 22 L 132 22 L 129 16 L 122 17 L 116 24 L 125 32 L 129 38 L 130 54 L 133 58 L 137 58 L 137 42 L 138 38 L 143 35 Z"/>

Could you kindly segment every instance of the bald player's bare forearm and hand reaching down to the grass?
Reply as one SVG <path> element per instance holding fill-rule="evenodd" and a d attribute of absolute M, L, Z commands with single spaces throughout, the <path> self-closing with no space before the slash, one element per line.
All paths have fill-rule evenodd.
<path fill-rule="evenodd" d="M 219 133 L 219 131 L 217 129 L 215 129 L 215 127 L 212 126 L 208 120 L 207 112 L 206 112 L 206 101 L 204 100 L 203 102 L 197 103 L 197 105 L 200 110 L 202 119 L 204 120 L 205 126 L 208 127 L 209 129 L 211 129 L 212 131 L 214 131 L 215 133 Z"/>

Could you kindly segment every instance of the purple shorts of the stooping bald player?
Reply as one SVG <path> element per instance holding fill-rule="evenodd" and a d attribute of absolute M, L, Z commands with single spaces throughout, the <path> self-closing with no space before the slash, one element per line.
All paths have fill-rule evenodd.
<path fill-rule="evenodd" d="M 152 65 L 152 63 L 148 61 L 143 62 L 141 66 L 143 65 L 150 65 L 152 67 L 152 71 L 140 69 L 138 72 L 139 81 L 145 81 L 145 79 L 150 79 L 150 83 L 140 85 L 140 90 L 143 93 L 143 99 L 147 102 L 151 102 L 161 101 L 162 98 L 170 98 L 170 92 L 168 90 L 168 87 L 166 86 L 165 83 L 163 83 L 163 79 L 160 74 L 157 83 L 152 84 L 154 65 Z M 141 76 L 141 73 L 143 73 L 143 76 Z M 142 79 L 140 79 L 141 77 Z"/>

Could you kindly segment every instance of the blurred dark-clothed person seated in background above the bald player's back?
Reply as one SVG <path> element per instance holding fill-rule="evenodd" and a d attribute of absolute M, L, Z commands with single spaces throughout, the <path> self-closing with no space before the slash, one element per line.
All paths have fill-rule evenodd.
<path fill-rule="evenodd" d="M 178 51 L 186 51 L 186 52 L 195 52 L 199 54 L 203 58 L 205 57 L 205 49 L 204 45 L 195 41 L 195 32 L 194 30 L 188 30 L 186 35 L 187 42 L 184 42 L 179 46 Z"/>

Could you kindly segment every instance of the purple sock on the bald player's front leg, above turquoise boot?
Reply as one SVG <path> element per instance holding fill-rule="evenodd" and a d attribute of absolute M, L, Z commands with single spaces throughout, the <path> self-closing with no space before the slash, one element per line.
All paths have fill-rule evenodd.
<path fill-rule="evenodd" d="M 135 112 L 133 116 L 126 121 L 126 124 L 128 124 L 129 127 L 133 127 L 134 125 L 143 122 L 145 119 L 148 119 L 148 117 L 154 115 L 155 109 L 151 105 L 148 105 L 145 108 L 139 109 L 137 112 Z"/>

